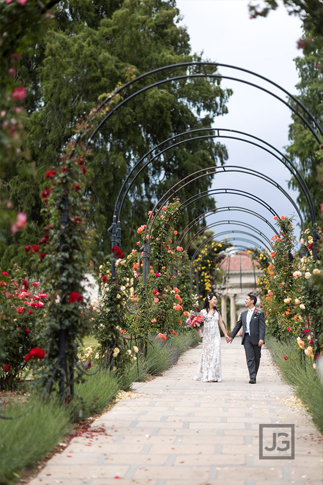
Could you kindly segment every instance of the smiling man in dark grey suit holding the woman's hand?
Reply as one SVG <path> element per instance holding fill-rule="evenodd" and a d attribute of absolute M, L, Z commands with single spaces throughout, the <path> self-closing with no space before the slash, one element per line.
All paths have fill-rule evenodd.
<path fill-rule="evenodd" d="M 265 316 L 261 310 L 256 308 L 256 303 L 257 297 L 254 294 L 249 293 L 245 299 L 245 306 L 248 310 L 241 313 L 236 326 L 227 340 L 228 343 L 231 343 L 242 326 L 241 343 L 245 347 L 250 384 L 256 384 L 256 375 L 261 357 L 261 347 L 265 341 Z"/>

